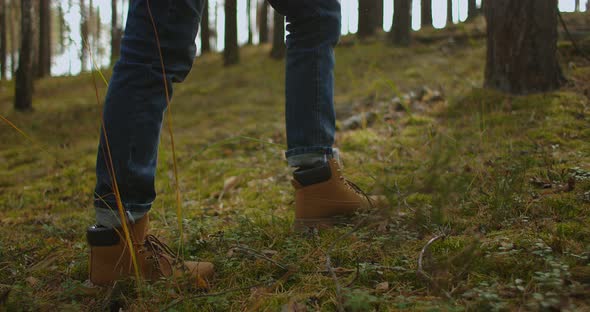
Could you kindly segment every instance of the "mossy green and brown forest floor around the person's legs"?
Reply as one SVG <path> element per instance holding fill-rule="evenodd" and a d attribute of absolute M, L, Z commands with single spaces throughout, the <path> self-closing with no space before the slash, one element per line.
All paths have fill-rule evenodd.
<path fill-rule="evenodd" d="M 183 256 L 214 262 L 208 292 L 172 280 L 139 292 L 132 281 L 87 283 L 93 78 L 39 81 L 30 114 L 12 111 L 3 84 L 0 112 L 34 143 L 0 125 L 0 310 L 590 311 L 590 64 L 562 42 L 561 90 L 484 90 L 484 38 L 461 36 L 478 28 L 407 49 L 343 39 L 344 171 L 390 206 L 359 216 L 362 227 L 309 235 L 291 228 L 283 63 L 268 47 L 243 48 L 226 69 L 220 55 L 197 59 L 171 117 Z M 170 146 L 164 128 L 151 216 L 176 249 Z"/>

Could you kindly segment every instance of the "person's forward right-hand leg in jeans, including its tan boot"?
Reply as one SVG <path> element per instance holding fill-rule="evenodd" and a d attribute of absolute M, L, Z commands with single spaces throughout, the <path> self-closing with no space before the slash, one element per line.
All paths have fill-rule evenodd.
<path fill-rule="evenodd" d="M 295 228 L 324 227 L 371 208 L 341 173 L 336 150 L 334 46 L 338 0 L 270 0 L 287 16 L 286 120 L 288 163 L 295 186 Z"/>

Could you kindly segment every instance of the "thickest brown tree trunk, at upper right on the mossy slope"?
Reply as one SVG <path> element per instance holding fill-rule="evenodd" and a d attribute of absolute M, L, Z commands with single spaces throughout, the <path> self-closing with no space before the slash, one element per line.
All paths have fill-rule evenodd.
<path fill-rule="evenodd" d="M 557 0 L 488 1 L 486 20 L 486 87 L 529 94 L 564 83 L 557 61 Z"/>

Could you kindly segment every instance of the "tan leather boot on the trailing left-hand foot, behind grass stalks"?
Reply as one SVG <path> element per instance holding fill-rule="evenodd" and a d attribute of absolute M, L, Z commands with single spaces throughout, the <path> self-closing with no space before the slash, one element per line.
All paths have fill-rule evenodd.
<path fill-rule="evenodd" d="M 190 277 L 198 288 L 207 288 L 213 277 L 213 264 L 182 261 L 166 244 L 147 235 L 149 215 L 129 225 L 141 277 Z M 109 285 L 135 275 L 129 246 L 122 229 L 92 226 L 86 232 L 90 244 L 90 281 Z"/>

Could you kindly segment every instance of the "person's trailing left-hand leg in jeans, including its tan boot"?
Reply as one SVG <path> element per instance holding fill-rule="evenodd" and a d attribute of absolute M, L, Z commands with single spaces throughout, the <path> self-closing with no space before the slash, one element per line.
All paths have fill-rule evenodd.
<path fill-rule="evenodd" d="M 86 232 L 91 247 L 90 280 L 97 285 L 133 275 L 132 259 L 136 259 L 139 274 L 148 280 L 184 273 L 205 287 L 202 281 L 213 275 L 209 262 L 182 261 L 163 252 L 162 243 L 147 235 L 146 215 L 155 198 L 166 95 L 171 97 L 171 84 L 182 81 L 191 69 L 203 4 L 204 0 L 130 2 L 121 59 L 115 65 L 103 113 L 96 168 L 97 224 Z M 113 194 L 113 172 L 129 219 L 131 241 L 118 228 L 121 220 Z M 135 257 L 129 246 L 134 246 Z"/>

